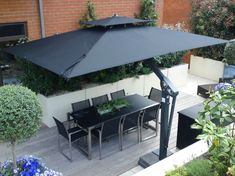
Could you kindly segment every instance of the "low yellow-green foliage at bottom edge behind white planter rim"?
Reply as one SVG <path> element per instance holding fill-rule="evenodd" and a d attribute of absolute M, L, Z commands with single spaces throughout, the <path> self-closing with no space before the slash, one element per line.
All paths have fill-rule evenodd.
<path fill-rule="evenodd" d="M 196 159 L 167 173 L 166 176 L 215 176 L 215 174 L 209 160 Z"/>

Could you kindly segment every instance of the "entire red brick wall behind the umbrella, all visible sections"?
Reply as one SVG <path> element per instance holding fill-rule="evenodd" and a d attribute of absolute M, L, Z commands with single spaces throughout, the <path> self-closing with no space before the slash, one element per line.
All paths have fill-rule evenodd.
<path fill-rule="evenodd" d="M 160 24 L 187 22 L 189 0 L 156 0 Z M 44 0 L 46 36 L 75 30 L 86 11 L 87 0 Z M 118 14 L 134 16 L 140 0 L 92 0 L 98 18 Z M 38 0 L 0 0 L 0 23 L 27 22 L 30 40 L 40 38 Z"/>

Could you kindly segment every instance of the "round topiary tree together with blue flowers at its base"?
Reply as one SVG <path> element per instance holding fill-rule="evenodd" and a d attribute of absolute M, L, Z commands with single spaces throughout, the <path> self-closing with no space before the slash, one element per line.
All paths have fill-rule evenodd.
<path fill-rule="evenodd" d="M 0 163 L 0 176 L 61 175 L 46 168 L 39 159 L 16 160 L 16 144 L 32 137 L 41 126 L 41 106 L 34 92 L 23 86 L 0 87 L 0 141 L 9 142 L 12 160 Z"/>

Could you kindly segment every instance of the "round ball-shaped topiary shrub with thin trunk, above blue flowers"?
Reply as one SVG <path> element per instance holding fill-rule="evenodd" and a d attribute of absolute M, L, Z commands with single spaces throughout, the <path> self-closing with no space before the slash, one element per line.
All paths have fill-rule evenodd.
<path fill-rule="evenodd" d="M 0 141 L 10 142 L 16 166 L 15 145 L 34 135 L 42 114 L 34 92 L 23 86 L 0 87 Z"/>

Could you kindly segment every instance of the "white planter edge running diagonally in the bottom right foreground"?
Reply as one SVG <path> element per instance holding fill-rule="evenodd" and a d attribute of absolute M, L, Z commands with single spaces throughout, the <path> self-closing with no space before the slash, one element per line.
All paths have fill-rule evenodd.
<path fill-rule="evenodd" d="M 138 172 L 134 176 L 164 176 L 166 172 L 174 170 L 176 167 L 183 166 L 207 152 L 208 145 L 205 141 L 201 140 Z"/>

